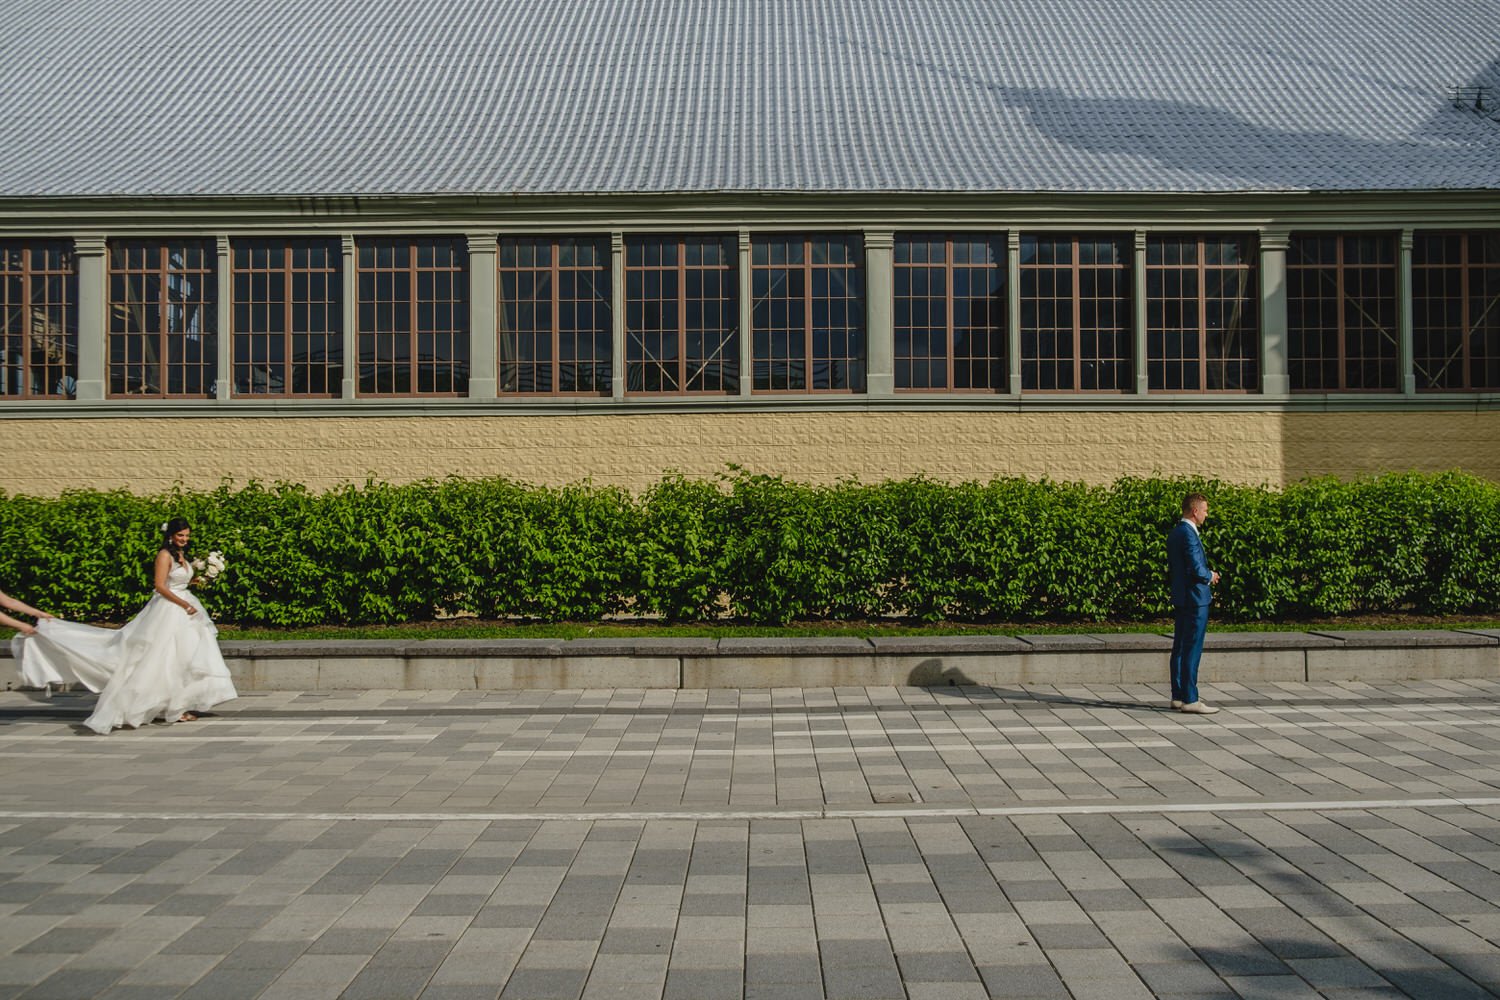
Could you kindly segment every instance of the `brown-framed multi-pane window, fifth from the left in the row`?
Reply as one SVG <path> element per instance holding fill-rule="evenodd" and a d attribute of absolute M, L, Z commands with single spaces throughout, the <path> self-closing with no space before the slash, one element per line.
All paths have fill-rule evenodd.
<path fill-rule="evenodd" d="M 500 241 L 500 391 L 609 393 L 609 241 Z"/>

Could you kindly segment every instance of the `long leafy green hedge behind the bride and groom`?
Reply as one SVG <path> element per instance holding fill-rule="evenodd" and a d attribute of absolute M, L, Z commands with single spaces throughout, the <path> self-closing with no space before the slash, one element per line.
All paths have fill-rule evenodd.
<path fill-rule="evenodd" d="M 458 478 L 0 495 L 0 586 L 72 618 L 123 621 L 147 595 L 156 525 L 180 514 L 196 552 L 228 559 L 206 603 L 242 624 L 1152 619 L 1168 610 L 1166 532 L 1188 490 L 1212 504 L 1220 618 L 1500 609 L 1500 487 L 1456 472 L 1284 490 L 736 474 L 664 478 L 639 496 Z"/>

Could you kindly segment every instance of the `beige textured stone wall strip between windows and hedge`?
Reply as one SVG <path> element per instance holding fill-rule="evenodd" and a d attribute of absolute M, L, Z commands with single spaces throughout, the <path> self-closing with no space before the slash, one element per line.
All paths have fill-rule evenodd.
<path fill-rule="evenodd" d="M 666 471 L 728 463 L 826 483 L 996 475 L 1107 483 L 1206 475 L 1282 484 L 1304 475 L 1462 468 L 1500 480 L 1500 411 L 1014 412 L 832 411 L 598 415 L 108 417 L 0 420 L 3 489 L 153 492 L 225 477 L 327 489 L 506 475 L 640 489 Z"/>

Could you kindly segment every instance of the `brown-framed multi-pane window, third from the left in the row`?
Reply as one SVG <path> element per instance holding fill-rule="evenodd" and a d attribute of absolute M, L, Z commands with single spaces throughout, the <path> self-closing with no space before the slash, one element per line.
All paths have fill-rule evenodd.
<path fill-rule="evenodd" d="M 328 240 L 232 243 L 236 396 L 338 396 L 342 252 Z"/>

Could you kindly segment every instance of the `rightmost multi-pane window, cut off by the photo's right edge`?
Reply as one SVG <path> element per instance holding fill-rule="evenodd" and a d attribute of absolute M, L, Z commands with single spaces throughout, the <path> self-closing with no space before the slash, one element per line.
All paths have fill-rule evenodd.
<path fill-rule="evenodd" d="M 1500 232 L 1416 234 L 1412 340 L 1418 390 L 1500 390 Z"/>

